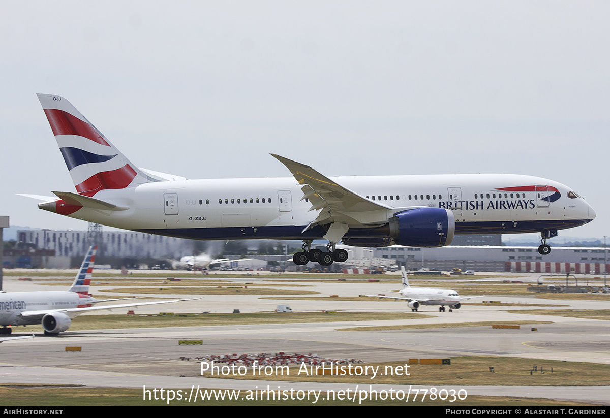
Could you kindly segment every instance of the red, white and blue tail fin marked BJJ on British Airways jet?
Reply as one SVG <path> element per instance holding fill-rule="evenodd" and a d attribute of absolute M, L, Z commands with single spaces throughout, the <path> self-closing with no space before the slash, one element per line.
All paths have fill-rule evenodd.
<path fill-rule="evenodd" d="M 123 189 L 150 181 L 70 102 L 38 94 L 76 191 L 92 197 L 100 190 Z"/>

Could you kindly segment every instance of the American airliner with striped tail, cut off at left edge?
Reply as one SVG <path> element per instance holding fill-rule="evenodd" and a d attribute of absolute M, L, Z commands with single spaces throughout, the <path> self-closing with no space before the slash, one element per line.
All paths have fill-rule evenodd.
<path fill-rule="evenodd" d="M 45 335 L 57 335 L 70 327 L 74 317 L 85 312 L 194 300 L 174 299 L 159 302 L 91 306 L 99 302 L 133 299 L 127 297 L 96 300 L 88 294 L 96 249 L 97 247 L 89 249 L 82 262 L 81 269 L 76 274 L 74 283 L 68 291 L 0 292 L 0 325 L 4 326 L 0 328 L 0 334 L 10 334 L 12 332 L 12 328 L 9 328 L 11 325 L 42 324 Z"/>

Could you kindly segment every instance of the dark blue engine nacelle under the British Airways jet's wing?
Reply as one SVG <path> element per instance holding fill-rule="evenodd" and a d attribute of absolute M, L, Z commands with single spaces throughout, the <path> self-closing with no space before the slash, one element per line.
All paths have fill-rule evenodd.
<path fill-rule="evenodd" d="M 455 230 L 453 212 L 443 208 L 405 210 L 390 219 L 390 236 L 400 246 L 448 246 Z"/>

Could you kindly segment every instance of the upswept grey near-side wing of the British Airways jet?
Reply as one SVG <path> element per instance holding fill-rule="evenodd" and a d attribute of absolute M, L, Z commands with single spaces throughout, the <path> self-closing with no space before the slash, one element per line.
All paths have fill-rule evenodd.
<path fill-rule="evenodd" d="M 388 211 L 396 208 L 373 202 L 345 187 L 338 185 L 310 166 L 271 154 L 286 166 L 299 184 L 304 196 L 309 199 L 310 211 L 320 210 L 317 218 L 308 225 L 339 222 L 346 225 L 363 225 L 387 222 Z"/>

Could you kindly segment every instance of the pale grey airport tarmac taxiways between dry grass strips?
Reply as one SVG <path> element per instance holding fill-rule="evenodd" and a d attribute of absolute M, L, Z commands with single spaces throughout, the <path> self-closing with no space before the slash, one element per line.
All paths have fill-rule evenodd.
<path fill-rule="evenodd" d="M 238 277 L 243 283 L 245 278 Z M 262 278 L 260 279 L 262 280 Z M 247 281 L 252 281 L 248 278 Z M 5 277 L 5 289 L 11 280 Z M 269 282 L 265 282 L 269 283 Z M 29 290 L 40 289 L 31 282 L 19 282 Z M 398 288 L 397 283 L 366 282 L 294 282 L 320 296 L 339 294 L 357 296 L 376 294 Z M 283 285 L 283 286 L 282 286 Z M 49 286 L 57 289 L 57 286 Z M 112 286 L 115 288 L 115 286 Z M 277 288 L 291 289 L 280 282 Z M 97 297 L 102 289 L 92 289 Z M 113 293 L 113 296 L 118 294 Z M 151 295 L 154 296 L 154 295 Z M 181 297 L 181 295 L 175 295 Z M 167 297 L 164 295 L 164 297 Z M 173 297 L 173 296 L 169 296 Z M 192 295 L 188 297 L 193 297 Z M 282 297 L 260 299 L 261 296 L 204 296 L 201 300 L 171 305 L 174 312 L 242 312 L 272 311 L 276 304 L 286 303 L 295 311 L 410 311 L 404 302 L 365 302 L 334 300 L 287 300 Z M 610 302 L 597 300 L 546 300 L 533 296 L 490 297 L 511 303 L 569 305 L 548 309 L 608 309 Z M 167 305 L 170 306 L 170 305 Z M 447 358 L 459 355 L 514 356 L 540 360 L 586 361 L 610 364 L 610 321 L 561 316 L 520 314 L 519 306 L 472 306 L 467 303 L 453 313 L 439 313 L 435 306 L 422 306 L 422 319 L 397 321 L 325 322 L 276 325 L 223 325 L 181 328 L 140 328 L 101 331 L 68 330 L 53 338 L 5 342 L 0 345 L 1 383 L 87 384 L 91 386 L 130 386 L 142 388 L 208 388 L 254 389 L 267 387 L 267 382 L 229 381 L 196 377 L 199 364 L 181 361 L 181 356 L 226 353 L 317 353 L 328 358 L 355 358 L 366 362 L 406 361 L 409 358 Z M 531 309 L 524 306 L 524 309 Z M 170 309 L 163 308 L 163 311 Z M 508 313 L 507 310 L 513 312 Z M 159 312 L 159 308 L 143 306 L 138 313 Z M 289 314 L 287 314 L 289 315 Z M 431 316 L 431 317 L 423 317 Z M 78 321 L 78 318 L 74 320 Z M 429 328 L 400 331 L 341 331 L 341 328 L 382 324 L 438 324 L 489 321 L 550 321 L 551 324 L 523 325 L 520 330 L 497 330 L 487 326 Z M 531 327 L 537 327 L 536 332 Z M 27 328 L 18 328 L 19 331 Z M 202 345 L 178 345 L 179 339 L 201 339 Z M 82 347 L 82 352 L 65 352 L 65 346 Z M 184 375 L 185 377 L 179 377 Z M 284 387 L 329 390 L 338 386 L 322 383 L 278 383 Z M 405 382 L 408 384 L 408 381 Z M 351 385 L 355 386 L 355 385 Z M 386 387 L 385 385 L 373 385 Z M 398 386 L 392 386 L 398 389 Z M 405 386 L 406 387 L 406 386 Z M 455 386 L 459 389 L 459 386 Z M 440 389 L 440 387 L 439 387 Z M 468 394 L 548 397 L 610 405 L 607 386 L 528 387 L 528 386 L 465 386 Z"/>

